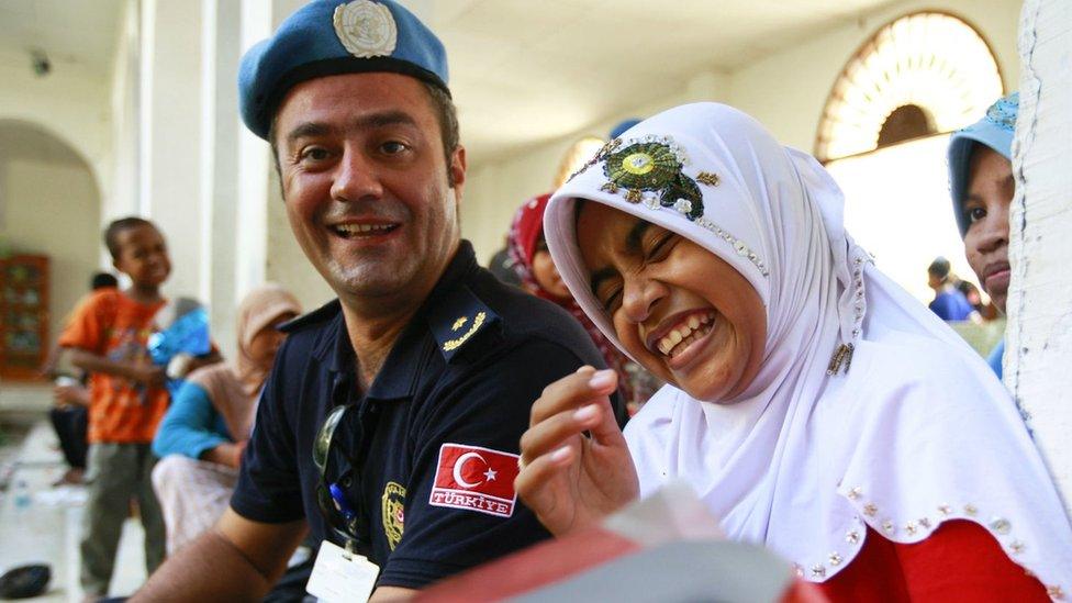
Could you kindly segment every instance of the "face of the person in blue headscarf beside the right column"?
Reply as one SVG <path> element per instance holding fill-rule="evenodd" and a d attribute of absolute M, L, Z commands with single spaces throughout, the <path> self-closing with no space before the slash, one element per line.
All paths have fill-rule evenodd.
<path fill-rule="evenodd" d="M 990 147 L 976 145 L 968 175 L 964 254 L 979 282 L 994 300 L 994 305 L 1004 313 L 1010 273 L 1008 205 L 1015 191 L 1013 167 L 1008 159 Z"/>

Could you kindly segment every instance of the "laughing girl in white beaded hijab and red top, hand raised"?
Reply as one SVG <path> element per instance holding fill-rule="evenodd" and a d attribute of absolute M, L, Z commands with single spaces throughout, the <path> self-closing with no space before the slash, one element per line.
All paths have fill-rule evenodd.
<path fill-rule="evenodd" d="M 1072 525 L 1015 405 L 846 233 L 811 156 L 715 103 L 612 141 L 545 216 L 556 266 L 662 388 L 623 434 L 615 376 L 549 386 L 518 492 L 568 534 L 670 480 L 833 601 L 1042 601 Z M 1029 573 L 1028 573 L 1029 572 Z"/>

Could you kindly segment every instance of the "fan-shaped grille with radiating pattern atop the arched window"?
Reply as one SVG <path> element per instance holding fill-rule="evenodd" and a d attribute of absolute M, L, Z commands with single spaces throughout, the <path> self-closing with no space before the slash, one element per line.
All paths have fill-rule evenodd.
<path fill-rule="evenodd" d="M 994 55 L 971 25 L 920 12 L 885 25 L 841 71 L 815 141 L 822 161 L 972 123 L 1002 96 Z"/>

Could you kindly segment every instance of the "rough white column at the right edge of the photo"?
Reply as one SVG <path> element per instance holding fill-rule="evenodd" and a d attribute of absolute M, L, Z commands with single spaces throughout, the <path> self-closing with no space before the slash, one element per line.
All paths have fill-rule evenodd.
<path fill-rule="evenodd" d="M 1072 512 L 1072 2 L 1024 2 L 1019 52 L 1004 375 Z"/>

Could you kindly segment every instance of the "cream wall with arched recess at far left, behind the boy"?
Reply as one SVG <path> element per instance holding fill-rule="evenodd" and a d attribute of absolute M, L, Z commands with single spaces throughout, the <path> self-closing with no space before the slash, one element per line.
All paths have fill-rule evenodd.
<path fill-rule="evenodd" d="M 14 252 L 52 257 L 55 339 L 90 275 L 110 267 L 100 243 L 101 199 L 114 182 L 109 82 L 64 60 L 38 77 L 26 55 L 8 53 L 0 53 L 0 121 L 31 125 L 70 149 L 52 160 L 21 156 L 18 148 L 0 154 L 0 238 Z"/>

